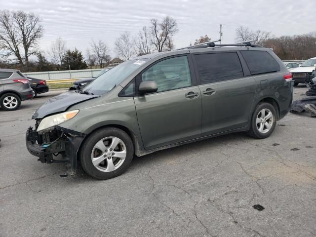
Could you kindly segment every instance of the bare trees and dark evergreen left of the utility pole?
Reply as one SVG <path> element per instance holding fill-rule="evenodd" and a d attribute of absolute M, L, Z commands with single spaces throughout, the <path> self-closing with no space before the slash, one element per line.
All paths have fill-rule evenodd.
<path fill-rule="evenodd" d="M 144 26 L 135 36 L 129 32 L 120 34 L 115 40 L 114 52 L 126 61 L 154 51 L 172 50 L 172 37 L 177 32 L 177 21 L 172 17 L 167 16 L 162 21 L 151 19 L 150 26 Z M 0 68 L 17 68 L 23 72 L 77 70 L 104 68 L 112 60 L 103 40 L 91 40 L 83 56 L 77 48 L 67 48 L 67 41 L 61 37 L 51 43 L 47 53 L 52 60 L 48 60 L 46 53 L 38 49 L 43 34 L 41 19 L 34 13 L 0 11 Z"/>

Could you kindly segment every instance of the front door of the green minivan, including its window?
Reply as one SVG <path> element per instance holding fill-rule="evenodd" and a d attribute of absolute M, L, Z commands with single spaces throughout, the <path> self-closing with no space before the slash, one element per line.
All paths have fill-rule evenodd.
<path fill-rule="evenodd" d="M 161 60 L 138 77 L 158 85 L 157 92 L 134 97 L 146 150 L 200 137 L 201 95 L 192 78 L 187 55 Z"/>

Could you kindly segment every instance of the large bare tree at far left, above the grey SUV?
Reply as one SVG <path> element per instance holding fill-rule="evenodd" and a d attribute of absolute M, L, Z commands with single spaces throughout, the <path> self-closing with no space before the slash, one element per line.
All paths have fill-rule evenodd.
<path fill-rule="evenodd" d="M 0 11 L 0 48 L 5 57 L 13 57 L 27 70 L 29 56 L 37 53 L 43 35 L 40 17 L 23 11 Z"/>

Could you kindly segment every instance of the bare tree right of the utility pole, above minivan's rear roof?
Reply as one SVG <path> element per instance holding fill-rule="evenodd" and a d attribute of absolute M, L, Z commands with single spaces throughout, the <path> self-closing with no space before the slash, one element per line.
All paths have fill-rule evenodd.
<path fill-rule="evenodd" d="M 252 31 L 248 27 L 239 26 L 236 29 L 236 41 L 255 40 L 255 44 L 264 44 L 271 36 L 271 32 L 256 30 Z"/>

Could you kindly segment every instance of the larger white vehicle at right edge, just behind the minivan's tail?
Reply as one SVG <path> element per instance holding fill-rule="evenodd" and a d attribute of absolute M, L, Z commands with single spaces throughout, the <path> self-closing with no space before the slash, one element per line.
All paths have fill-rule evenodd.
<path fill-rule="evenodd" d="M 316 57 L 306 60 L 300 67 L 290 69 L 294 80 L 294 86 L 298 83 L 309 83 L 312 72 L 316 69 Z"/>

